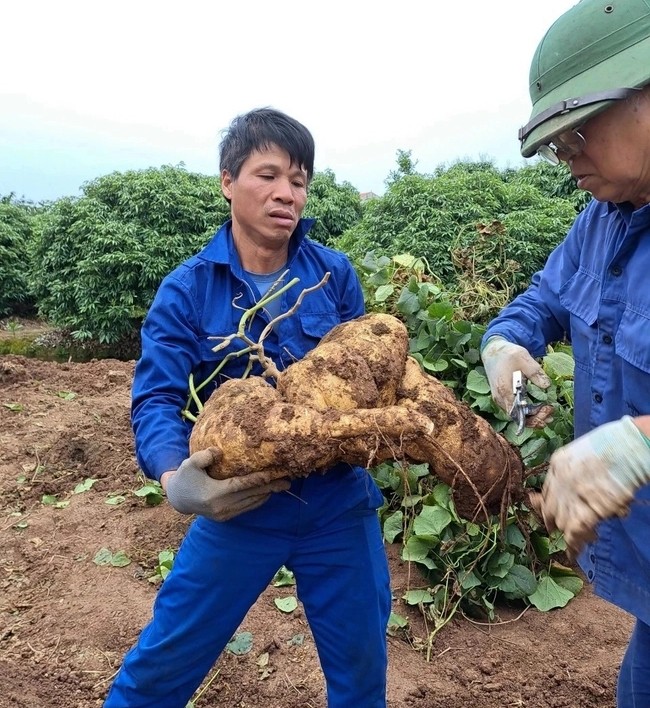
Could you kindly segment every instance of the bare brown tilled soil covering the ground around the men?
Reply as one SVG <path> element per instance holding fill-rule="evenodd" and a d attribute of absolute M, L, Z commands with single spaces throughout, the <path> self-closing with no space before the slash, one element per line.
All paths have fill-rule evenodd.
<path fill-rule="evenodd" d="M 133 368 L 0 357 L 0 708 L 101 706 L 150 617 L 158 553 L 187 528 L 166 502 L 135 494 L 144 479 L 129 426 Z M 87 479 L 96 482 L 74 493 Z M 130 563 L 100 565 L 101 549 Z M 388 640 L 390 708 L 615 705 L 632 620 L 588 586 L 550 613 L 504 606 L 489 625 L 457 615 L 429 642 L 432 628 L 401 600 L 418 570 L 399 545 L 386 550 L 393 609 L 409 619 Z M 262 594 L 240 628 L 251 651 L 224 652 L 197 708 L 326 705 L 300 607 L 284 614 L 274 604 L 293 593 Z"/>

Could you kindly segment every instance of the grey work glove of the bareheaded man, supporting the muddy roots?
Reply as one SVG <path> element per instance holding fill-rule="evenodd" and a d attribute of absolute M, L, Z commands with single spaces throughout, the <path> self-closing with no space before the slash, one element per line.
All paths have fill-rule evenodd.
<path fill-rule="evenodd" d="M 215 461 L 211 449 L 200 450 L 172 472 L 166 485 L 169 503 L 181 514 L 199 514 L 214 521 L 227 521 L 244 511 L 256 509 L 273 492 L 289 489 L 288 479 L 268 481 L 263 473 L 231 479 L 213 479 L 206 472 Z"/>

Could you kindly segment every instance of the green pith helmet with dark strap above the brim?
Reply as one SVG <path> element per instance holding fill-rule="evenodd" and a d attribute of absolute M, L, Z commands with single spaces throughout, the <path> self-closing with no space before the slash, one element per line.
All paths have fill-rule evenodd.
<path fill-rule="evenodd" d="M 539 43 L 530 66 L 533 110 L 519 130 L 521 154 L 582 125 L 621 89 L 650 83 L 650 0 L 581 0 Z"/>

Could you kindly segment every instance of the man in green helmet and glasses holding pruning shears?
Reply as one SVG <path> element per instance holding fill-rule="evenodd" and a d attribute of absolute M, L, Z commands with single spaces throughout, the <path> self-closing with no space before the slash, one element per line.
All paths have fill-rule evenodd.
<path fill-rule="evenodd" d="M 566 162 L 593 199 L 530 287 L 489 324 L 482 359 L 510 412 L 512 375 L 567 338 L 575 439 L 532 498 L 595 592 L 636 618 L 619 707 L 650 706 L 650 1 L 582 0 L 532 60 L 521 153 Z M 538 416 L 539 418 L 539 416 Z M 539 423 L 531 421 L 531 423 Z M 543 424 L 542 420 L 542 424 Z"/>

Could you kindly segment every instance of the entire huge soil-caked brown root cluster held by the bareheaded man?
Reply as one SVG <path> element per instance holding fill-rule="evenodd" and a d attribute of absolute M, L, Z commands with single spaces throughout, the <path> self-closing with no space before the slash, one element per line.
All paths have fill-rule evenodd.
<path fill-rule="evenodd" d="M 220 479 L 322 472 L 338 462 L 428 462 L 466 518 L 503 511 L 523 496 L 518 452 L 490 424 L 407 355 L 397 318 L 370 314 L 338 325 L 278 377 L 234 379 L 217 388 L 190 450 L 220 451 Z"/>

